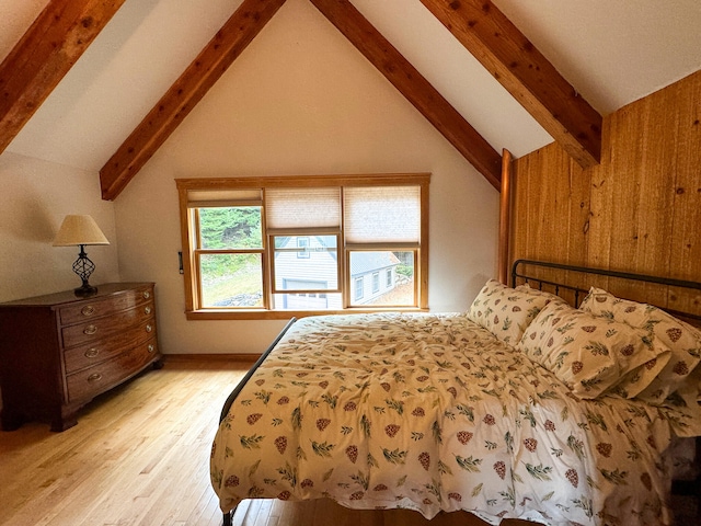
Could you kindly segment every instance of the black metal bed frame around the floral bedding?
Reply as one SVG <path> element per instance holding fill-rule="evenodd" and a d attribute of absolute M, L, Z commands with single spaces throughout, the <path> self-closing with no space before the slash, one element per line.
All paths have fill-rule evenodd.
<path fill-rule="evenodd" d="M 565 275 L 565 278 L 556 278 L 553 276 Z M 576 277 L 574 277 L 576 276 Z M 586 297 L 589 291 L 589 287 L 591 283 L 591 276 L 600 276 L 602 279 L 620 279 L 630 282 L 637 282 L 641 284 L 655 284 L 660 287 L 675 287 L 675 289 L 686 290 L 688 294 L 697 294 L 696 290 L 701 291 L 701 283 L 698 282 L 689 282 L 682 279 L 673 279 L 667 277 L 658 277 L 658 276 L 650 276 L 644 274 L 633 274 L 627 272 L 617 272 L 617 271 L 608 271 L 602 268 L 589 268 L 584 266 L 574 266 L 574 265 L 564 265 L 559 263 L 549 263 L 541 262 L 535 260 L 517 260 L 514 262 L 512 266 L 512 279 L 510 285 L 516 286 L 519 284 L 527 283 L 533 288 L 538 288 L 540 290 L 547 290 L 554 293 L 558 296 L 564 297 L 567 301 L 570 301 L 575 307 L 578 307 L 582 300 Z M 585 281 L 587 279 L 587 281 Z M 564 283 L 564 282 L 568 283 Z M 601 288 L 606 288 L 606 285 L 601 285 Z M 701 294 L 701 293 L 700 293 Z M 618 295 L 618 294 L 617 294 Z M 623 297 L 623 296 L 621 296 Z M 627 298 L 640 301 L 640 298 Z M 658 306 L 668 312 L 671 312 L 675 316 L 683 319 L 685 321 L 690 322 L 696 327 L 701 328 L 701 316 L 693 312 L 680 312 L 667 309 L 666 306 Z M 239 382 L 237 388 L 229 395 L 227 401 L 223 404 L 221 410 L 221 416 L 219 421 L 221 422 L 226 415 L 229 413 L 229 409 L 233 403 L 234 399 L 239 395 L 240 390 L 246 384 L 249 378 L 255 373 L 255 369 L 258 367 L 263 361 L 267 357 L 267 355 L 273 351 L 275 345 L 280 341 L 280 339 L 285 335 L 285 333 L 289 330 L 289 328 L 295 323 L 296 319 L 292 318 L 285 328 L 280 331 L 277 338 L 273 341 L 273 343 L 268 346 L 268 348 L 261 355 L 255 365 L 251 368 L 251 370 L 246 374 L 246 376 Z M 696 498 L 697 502 L 697 518 L 699 518 L 699 524 L 701 524 L 701 437 L 697 437 L 696 441 L 696 464 L 697 464 L 697 477 L 694 480 L 685 480 L 685 481 L 674 481 L 673 482 L 673 496 L 692 496 Z M 232 526 L 233 524 L 233 513 L 234 510 L 231 510 L 228 513 L 223 514 L 223 526 Z"/>

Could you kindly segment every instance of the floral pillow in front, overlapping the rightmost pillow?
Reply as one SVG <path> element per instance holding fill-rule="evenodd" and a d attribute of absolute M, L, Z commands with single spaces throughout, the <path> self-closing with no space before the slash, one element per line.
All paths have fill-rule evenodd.
<path fill-rule="evenodd" d="M 518 348 L 576 396 L 594 399 L 630 380 L 629 373 L 664 359 L 668 350 L 646 336 L 644 330 L 551 302 L 526 329 Z"/>

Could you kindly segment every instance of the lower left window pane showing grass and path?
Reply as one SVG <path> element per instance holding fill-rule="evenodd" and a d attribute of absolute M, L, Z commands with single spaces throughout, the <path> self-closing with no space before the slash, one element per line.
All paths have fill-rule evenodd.
<path fill-rule="evenodd" d="M 202 254 L 202 306 L 263 307 L 262 254 Z"/>

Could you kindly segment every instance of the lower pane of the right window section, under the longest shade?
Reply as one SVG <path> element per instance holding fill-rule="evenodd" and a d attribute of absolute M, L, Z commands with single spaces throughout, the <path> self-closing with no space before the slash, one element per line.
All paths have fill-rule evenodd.
<path fill-rule="evenodd" d="M 380 273 L 384 279 L 379 278 Z M 350 284 L 354 307 L 412 307 L 415 305 L 414 252 L 350 252 Z"/>

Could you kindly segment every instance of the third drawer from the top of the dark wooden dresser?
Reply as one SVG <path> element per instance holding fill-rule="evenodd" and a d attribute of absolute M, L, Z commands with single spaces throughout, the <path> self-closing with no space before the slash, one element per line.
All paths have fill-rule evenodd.
<path fill-rule="evenodd" d="M 134 347 L 152 339 L 156 334 L 156 324 L 149 319 L 140 325 L 133 327 L 124 332 L 116 332 L 97 342 L 90 342 L 66 351 L 66 374 L 91 367 L 100 362 L 122 354 L 126 348 Z M 156 342 L 153 342 L 156 344 Z"/>

